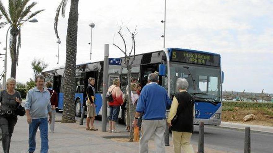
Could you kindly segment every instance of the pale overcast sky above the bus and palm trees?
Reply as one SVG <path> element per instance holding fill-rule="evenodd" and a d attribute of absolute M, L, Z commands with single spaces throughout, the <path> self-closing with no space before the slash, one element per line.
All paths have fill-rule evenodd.
<path fill-rule="evenodd" d="M 8 1 L 2 2 L 7 8 Z M 38 23 L 25 23 L 21 28 L 22 47 L 16 73 L 19 82 L 33 77 L 30 63 L 34 58 L 43 58 L 49 68 L 57 66 L 58 44 L 53 20 L 60 0 L 36 2 L 38 5 L 33 11 L 46 11 L 35 17 Z M 223 90 L 261 92 L 265 89 L 266 93 L 273 93 L 272 8 L 272 0 L 167 0 L 166 47 L 219 53 L 225 72 Z M 68 13 L 69 6 L 65 19 L 60 18 L 59 21 L 61 65 L 65 63 Z M 92 60 L 100 61 L 104 44 L 110 44 L 110 57 L 122 56 L 111 45 L 114 38 L 115 44 L 122 46 L 117 35 L 120 25 L 131 29 L 137 26 L 137 54 L 162 50 L 162 19 L 164 0 L 79 0 L 77 63 L 89 61 L 89 23 L 96 25 L 92 34 Z M 5 26 L 0 30 L 1 50 L 5 47 L 7 28 Z M 124 34 L 130 40 L 126 31 Z M 130 41 L 128 46 L 131 46 Z M 0 62 L 0 67 L 3 65 L 4 62 Z M 8 56 L 7 76 L 10 76 L 10 68 Z"/>

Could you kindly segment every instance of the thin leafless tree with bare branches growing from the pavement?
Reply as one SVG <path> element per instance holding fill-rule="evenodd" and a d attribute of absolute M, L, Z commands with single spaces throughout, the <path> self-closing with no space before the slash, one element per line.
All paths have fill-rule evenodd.
<path fill-rule="evenodd" d="M 115 45 L 113 43 L 114 46 L 116 46 L 119 50 L 121 50 L 123 53 L 124 53 L 124 64 L 126 65 L 126 68 L 128 70 L 128 75 L 127 75 L 127 78 L 128 78 L 128 103 L 129 103 L 129 112 L 130 112 L 130 142 L 133 142 L 133 127 L 132 127 L 132 122 L 133 122 L 133 118 L 134 118 L 134 114 L 132 114 L 133 112 L 133 104 L 132 104 L 132 95 L 131 95 L 131 68 L 132 68 L 132 64 L 135 60 L 135 55 L 136 55 L 136 43 L 135 43 L 135 36 L 137 34 L 136 30 L 137 30 L 137 26 L 135 28 L 135 31 L 134 32 L 131 32 L 129 30 L 128 27 L 126 27 L 128 32 L 130 33 L 131 35 L 131 39 L 132 39 L 132 47 L 131 47 L 131 50 L 130 51 L 127 51 L 127 46 L 126 46 L 126 42 L 124 40 L 124 36 L 121 34 L 121 30 L 122 28 L 119 29 L 119 36 L 122 38 L 123 40 L 123 43 L 124 43 L 124 50 L 121 49 L 119 46 Z M 132 59 L 131 59 L 131 54 L 133 53 L 132 55 Z M 127 94 L 127 93 L 125 93 Z"/>

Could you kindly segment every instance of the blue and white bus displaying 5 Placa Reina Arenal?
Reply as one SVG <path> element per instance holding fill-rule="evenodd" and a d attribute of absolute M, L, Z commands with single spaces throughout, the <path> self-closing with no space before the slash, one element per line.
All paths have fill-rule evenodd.
<path fill-rule="evenodd" d="M 124 60 L 124 57 L 121 57 Z M 121 65 L 109 65 L 108 85 L 114 78 L 120 78 L 121 90 L 125 93 L 127 86 L 127 69 Z M 165 70 L 166 68 L 166 70 Z M 159 85 L 166 88 L 170 97 L 177 92 L 177 78 L 186 78 L 189 82 L 188 92 L 195 97 L 195 120 L 198 125 L 220 125 L 222 113 L 222 82 L 221 57 L 219 54 L 178 48 L 166 48 L 160 51 L 136 55 L 132 64 L 132 76 L 138 78 L 144 87 L 150 73 L 158 71 Z M 53 82 L 53 89 L 58 93 L 58 109 L 63 109 L 63 76 L 65 66 L 42 72 L 46 81 Z M 80 117 L 85 106 L 87 79 L 96 79 L 96 112 L 102 114 L 103 61 L 78 64 L 75 76 L 75 115 Z M 86 110 L 85 110 L 86 111 Z M 108 112 L 108 111 L 107 111 Z M 109 114 L 109 112 L 107 113 Z M 125 120 L 126 111 L 120 111 L 119 118 Z"/>

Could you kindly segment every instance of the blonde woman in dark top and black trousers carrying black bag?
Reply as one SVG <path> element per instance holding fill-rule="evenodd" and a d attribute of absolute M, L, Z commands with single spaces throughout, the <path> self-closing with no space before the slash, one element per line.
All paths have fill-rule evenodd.
<path fill-rule="evenodd" d="M 4 153 L 9 153 L 11 136 L 17 122 L 14 111 L 22 103 L 19 91 L 15 90 L 16 80 L 7 79 L 7 90 L 1 91 L 0 97 L 0 126 L 2 130 L 2 147 Z"/>

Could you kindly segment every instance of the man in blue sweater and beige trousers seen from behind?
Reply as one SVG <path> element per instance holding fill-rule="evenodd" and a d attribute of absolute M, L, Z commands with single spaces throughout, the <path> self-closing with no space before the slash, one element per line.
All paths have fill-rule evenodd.
<path fill-rule="evenodd" d="M 137 119 L 143 113 L 139 152 L 148 153 L 148 141 L 154 135 L 156 153 L 165 153 L 164 132 L 166 129 L 166 109 L 170 109 L 170 100 L 165 88 L 158 85 L 159 77 L 152 73 L 148 76 L 137 101 L 136 115 L 133 126 L 137 126 Z"/>

